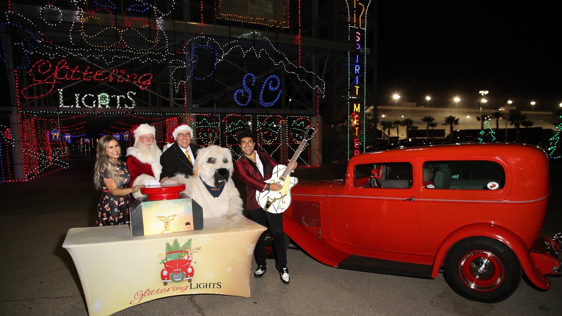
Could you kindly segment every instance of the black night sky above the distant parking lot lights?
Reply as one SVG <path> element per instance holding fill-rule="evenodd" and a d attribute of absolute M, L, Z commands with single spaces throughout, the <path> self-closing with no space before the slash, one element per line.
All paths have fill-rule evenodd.
<path fill-rule="evenodd" d="M 531 4 L 533 3 L 533 4 Z M 379 1 L 379 105 L 475 107 L 505 98 L 520 110 L 562 102 L 560 24 L 549 2 Z M 555 48 L 556 47 L 556 48 Z"/>

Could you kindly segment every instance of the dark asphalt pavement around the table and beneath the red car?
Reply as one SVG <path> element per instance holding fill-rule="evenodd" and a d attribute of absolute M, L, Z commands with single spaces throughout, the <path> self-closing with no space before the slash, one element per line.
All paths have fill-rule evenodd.
<path fill-rule="evenodd" d="M 88 315 L 74 263 L 62 242 L 68 229 L 93 226 L 100 193 L 91 178 L 93 160 L 69 160 L 70 167 L 29 182 L 0 183 L 0 315 Z M 341 179 L 345 165 L 299 168 L 301 180 Z M 562 231 L 556 197 L 561 175 L 552 177 L 545 233 Z M 238 183 L 237 183 L 238 185 Z M 180 295 L 132 306 L 114 315 L 562 315 L 562 278 L 537 290 L 525 279 L 509 299 L 483 304 L 463 299 L 436 279 L 341 270 L 288 250 L 291 283 L 274 269 L 250 279 L 251 297 Z M 274 267 L 273 261 L 268 266 Z M 253 264 L 255 268 L 255 264 Z M 107 268 L 100 277 L 123 277 Z"/>

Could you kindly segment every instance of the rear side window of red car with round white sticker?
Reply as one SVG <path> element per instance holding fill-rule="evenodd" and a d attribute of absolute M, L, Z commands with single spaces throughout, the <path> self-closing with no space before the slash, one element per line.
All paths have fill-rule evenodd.
<path fill-rule="evenodd" d="M 433 169 L 433 178 L 424 179 L 427 189 L 496 190 L 505 186 L 505 170 L 495 161 L 425 161 L 424 170 Z M 430 172 L 424 172 L 424 177 Z"/>

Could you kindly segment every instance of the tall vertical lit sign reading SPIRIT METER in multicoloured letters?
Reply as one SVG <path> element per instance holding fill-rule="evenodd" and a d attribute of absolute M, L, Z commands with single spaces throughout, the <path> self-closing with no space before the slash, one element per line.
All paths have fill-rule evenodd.
<path fill-rule="evenodd" d="M 365 2 L 367 4 L 365 4 Z M 366 11 L 368 0 L 348 0 L 349 39 L 355 44 L 348 52 L 348 155 L 359 155 L 365 152 L 365 44 L 366 44 Z"/>

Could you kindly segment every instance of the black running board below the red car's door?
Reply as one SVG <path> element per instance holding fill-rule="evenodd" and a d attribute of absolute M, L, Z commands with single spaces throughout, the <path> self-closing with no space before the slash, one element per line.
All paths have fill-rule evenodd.
<path fill-rule="evenodd" d="M 432 266 L 350 255 L 338 264 L 338 269 L 430 279 Z"/>

